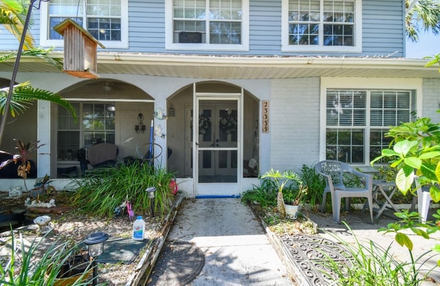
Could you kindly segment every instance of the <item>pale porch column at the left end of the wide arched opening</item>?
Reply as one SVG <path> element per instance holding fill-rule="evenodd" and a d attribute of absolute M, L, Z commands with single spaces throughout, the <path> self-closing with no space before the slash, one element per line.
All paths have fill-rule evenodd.
<path fill-rule="evenodd" d="M 50 102 L 47 100 L 38 101 L 38 117 L 36 119 L 36 139 L 41 146 L 37 152 L 38 166 L 37 177 L 50 175 Z"/>

